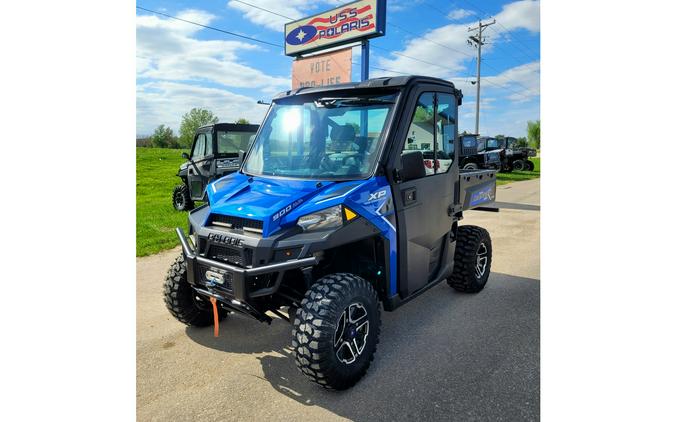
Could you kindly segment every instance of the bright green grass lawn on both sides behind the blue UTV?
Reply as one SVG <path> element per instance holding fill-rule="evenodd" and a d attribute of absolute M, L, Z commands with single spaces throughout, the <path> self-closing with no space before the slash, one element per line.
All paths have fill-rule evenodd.
<path fill-rule="evenodd" d="M 146 256 L 178 245 L 174 229 L 187 233 L 187 213 L 171 205 L 173 187 L 183 163 L 182 150 L 136 148 L 136 256 Z M 498 173 L 497 184 L 539 177 L 539 158 L 533 158 L 534 171 Z"/>

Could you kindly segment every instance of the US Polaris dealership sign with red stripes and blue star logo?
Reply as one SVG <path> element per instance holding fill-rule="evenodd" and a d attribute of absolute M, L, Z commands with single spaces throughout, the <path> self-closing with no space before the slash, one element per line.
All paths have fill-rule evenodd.
<path fill-rule="evenodd" d="M 285 53 L 297 56 L 384 35 L 386 0 L 359 0 L 286 24 Z"/>

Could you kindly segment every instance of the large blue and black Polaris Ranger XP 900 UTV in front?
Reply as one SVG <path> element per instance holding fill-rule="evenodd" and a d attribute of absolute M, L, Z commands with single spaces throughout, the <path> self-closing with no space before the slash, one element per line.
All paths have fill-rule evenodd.
<path fill-rule="evenodd" d="M 496 190 L 493 170 L 459 168 L 461 101 L 452 83 L 420 76 L 277 95 L 241 169 L 208 185 L 188 236 L 176 229 L 168 310 L 216 335 L 229 312 L 274 314 L 293 326 L 302 373 L 354 385 L 374 357 L 380 304 L 393 311 L 446 280 L 479 292 L 490 275 L 490 235 L 459 225 Z"/>

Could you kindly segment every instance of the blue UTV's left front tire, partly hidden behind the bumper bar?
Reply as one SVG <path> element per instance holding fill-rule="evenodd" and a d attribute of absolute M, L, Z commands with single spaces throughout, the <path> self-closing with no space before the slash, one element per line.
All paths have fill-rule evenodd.
<path fill-rule="evenodd" d="M 208 298 L 197 294 L 188 283 L 183 254 L 176 258 L 166 275 L 164 304 L 171 315 L 185 325 L 208 327 L 213 324 L 213 305 Z M 218 319 L 226 316 L 227 311 L 219 309 Z"/>

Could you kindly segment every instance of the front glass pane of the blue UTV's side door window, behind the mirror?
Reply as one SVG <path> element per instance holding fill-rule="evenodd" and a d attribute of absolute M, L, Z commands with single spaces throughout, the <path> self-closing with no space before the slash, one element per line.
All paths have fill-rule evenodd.
<path fill-rule="evenodd" d="M 403 154 L 407 151 L 422 151 L 427 176 L 434 174 L 434 94 L 425 92 L 417 99 Z"/>

